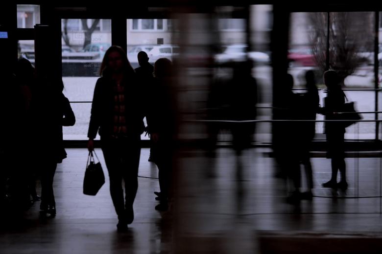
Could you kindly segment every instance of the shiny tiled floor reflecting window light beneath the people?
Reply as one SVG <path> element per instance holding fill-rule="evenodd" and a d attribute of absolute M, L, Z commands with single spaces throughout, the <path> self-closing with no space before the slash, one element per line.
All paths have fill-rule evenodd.
<path fill-rule="evenodd" d="M 296 207 L 284 202 L 285 184 L 273 177 L 275 162 L 264 148 L 239 159 L 220 148 L 215 160 L 185 151 L 177 160 L 171 212 L 159 213 L 157 168 L 142 149 L 135 220 L 127 233 L 117 233 L 108 182 L 96 196 L 82 194 L 87 151 L 67 152 L 54 181 L 57 216 L 40 218 L 37 203 L 18 224 L 3 218 L 1 254 L 256 253 L 261 231 L 382 233 L 381 199 L 366 198 L 380 196 L 380 158 L 346 159 L 350 188 L 337 198 L 319 188 L 330 177 L 330 161 L 312 158 L 314 194 L 320 197 Z M 363 198 L 344 198 L 354 195 Z"/>

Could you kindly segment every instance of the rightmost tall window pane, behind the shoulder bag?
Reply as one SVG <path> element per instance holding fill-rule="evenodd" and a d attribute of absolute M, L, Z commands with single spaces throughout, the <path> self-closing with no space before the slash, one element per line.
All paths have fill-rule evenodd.
<path fill-rule="evenodd" d="M 330 14 L 330 67 L 344 79 L 344 88 L 374 88 L 374 12 Z M 374 91 L 345 91 L 358 111 L 375 110 Z M 374 114 L 362 114 L 374 120 Z M 376 124 L 358 123 L 346 128 L 347 139 L 374 139 Z"/>

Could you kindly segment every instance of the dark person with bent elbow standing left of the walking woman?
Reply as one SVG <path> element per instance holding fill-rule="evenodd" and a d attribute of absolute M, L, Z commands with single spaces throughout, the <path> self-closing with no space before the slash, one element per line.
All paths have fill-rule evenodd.
<path fill-rule="evenodd" d="M 45 74 L 38 77 L 31 101 L 35 144 L 47 148 L 43 154 L 35 154 L 41 170 L 40 210 L 47 217 L 56 215 L 56 203 L 53 192 L 53 179 L 57 163 L 61 163 L 67 154 L 63 144 L 63 126 L 73 126 L 75 116 L 68 98 L 62 93 L 64 84 L 61 78 L 47 68 Z"/>

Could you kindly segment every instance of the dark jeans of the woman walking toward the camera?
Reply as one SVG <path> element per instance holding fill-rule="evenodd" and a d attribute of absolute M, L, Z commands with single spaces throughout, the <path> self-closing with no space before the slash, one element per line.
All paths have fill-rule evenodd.
<path fill-rule="evenodd" d="M 110 194 L 117 215 L 133 205 L 138 190 L 138 167 L 141 156 L 140 137 L 101 139 L 101 147 L 110 179 Z M 122 179 L 125 183 L 123 198 Z"/>

